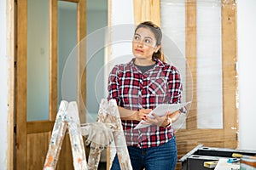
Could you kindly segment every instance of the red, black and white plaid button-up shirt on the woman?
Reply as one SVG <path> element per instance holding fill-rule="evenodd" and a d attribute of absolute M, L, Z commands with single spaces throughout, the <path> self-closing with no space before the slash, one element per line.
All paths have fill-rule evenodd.
<path fill-rule="evenodd" d="M 177 68 L 160 59 L 155 61 L 153 69 L 144 74 L 134 65 L 134 59 L 115 65 L 108 79 L 108 99 L 116 99 L 119 106 L 132 111 L 180 103 L 183 88 Z M 172 139 L 172 127 L 150 126 L 135 130 L 138 123 L 122 121 L 127 145 L 148 148 Z"/>

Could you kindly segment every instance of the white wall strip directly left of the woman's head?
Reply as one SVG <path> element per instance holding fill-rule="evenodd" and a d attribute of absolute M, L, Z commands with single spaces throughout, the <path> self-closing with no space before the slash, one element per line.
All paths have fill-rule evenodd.
<path fill-rule="evenodd" d="M 113 65 L 129 62 L 132 56 L 131 41 L 135 29 L 133 1 L 111 0 L 111 56 L 108 69 Z M 110 72 L 108 71 L 108 73 Z"/>

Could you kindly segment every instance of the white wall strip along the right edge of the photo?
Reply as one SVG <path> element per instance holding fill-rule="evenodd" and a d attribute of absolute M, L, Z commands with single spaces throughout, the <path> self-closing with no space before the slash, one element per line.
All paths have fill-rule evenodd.
<path fill-rule="evenodd" d="M 256 1 L 237 1 L 239 148 L 256 150 Z"/>

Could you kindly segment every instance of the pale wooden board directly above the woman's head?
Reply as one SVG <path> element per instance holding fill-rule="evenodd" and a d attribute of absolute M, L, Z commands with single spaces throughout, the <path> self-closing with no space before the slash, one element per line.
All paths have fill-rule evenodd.
<path fill-rule="evenodd" d="M 160 26 L 160 0 L 133 0 L 133 10 L 136 25 L 150 20 Z"/>

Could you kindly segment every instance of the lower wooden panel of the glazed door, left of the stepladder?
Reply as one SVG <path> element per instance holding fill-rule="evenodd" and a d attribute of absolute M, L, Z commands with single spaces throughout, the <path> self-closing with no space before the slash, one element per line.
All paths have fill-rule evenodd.
<path fill-rule="evenodd" d="M 50 132 L 27 135 L 27 169 L 43 169 L 49 147 Z M 18 168 L 19 169 L 19 168 Z"/>

